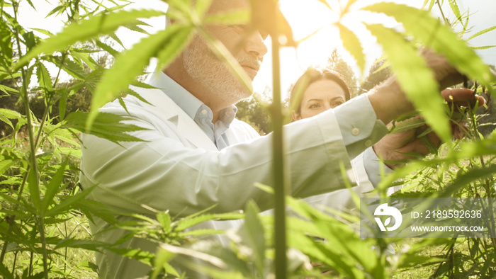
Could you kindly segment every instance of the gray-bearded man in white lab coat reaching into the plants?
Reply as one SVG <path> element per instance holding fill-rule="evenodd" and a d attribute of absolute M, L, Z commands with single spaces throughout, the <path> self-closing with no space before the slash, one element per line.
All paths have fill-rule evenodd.
<path fill-rule="evenodd" d="M 208 12 L 245 7 L 244 0 L 215 0 Z M 208 31 L 253 79 L 267 51 L 263 36 L 252 33 L 244 40 L 247 30 L 239 25 L 213 25 Z M 439 81 L 458 78 L 441 57 L 430 55 L 428 61 L 438 72 Z M 132 96 L 125 98 L 127 110 L 135 117 L 130 123 L 149 129 L 133 134 L 145 142 L 119 145 L 84 135 L 81 184 L 84 188 L 98 186 L 89 198 L 121 212 L 150 216 L 154 215 L 150 208 L 169 210 L 177 217 L 213 205 L 210 212 L 231 212 L 244 209 L 248 200 L 254 200 L 261 210 L 271 208 L 272 195 L 254 187 L 256 182 L 272 185 L 271 135 L 259 137 L 252 127 L 234 118 L 233 104 L 251 92 L 239 84 L 205 42 L 196 36 L 163 73 L 152 76 L 150 83 L 159 89 L 135 90 L 152 105 Z M 452 94 L 456 100 L 468 92 Z M 350 159 L 388 132 L 384 123 L 412 110 L 395 80 L 388 79 L 335 110 L 288 125 L 285 134 L 293 195 L 304 198 L 344 188 L 339 162 L 350 169 Z M 128 115 L 116 102 L 101 111 Z M 384 150 L 390 148 L 390 144 L 378 146 L 376 152 L 386 154 Z M 133 219 L 120 216 L 119 220 Z M 236 225 L 235 221 L 202 224 L 210 229 Z M 113 243 L 125 234 L 106 229 L 108 224 L 103 220 L 96 218 L 91 223 L 94 238 L 100 241 Z M 157 250 L 154 243 L 144 239 L 133 238 L 123 245 Z M 101 278 L 137 278 L 149 271 L 144 264 L 110 251 L 98 254 L 97 263 Z"/>

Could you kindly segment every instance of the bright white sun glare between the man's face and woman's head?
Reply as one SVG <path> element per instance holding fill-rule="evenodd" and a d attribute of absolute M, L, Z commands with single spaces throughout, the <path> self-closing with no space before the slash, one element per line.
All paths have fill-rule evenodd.
<path fill-rule="evenodd" d="M 393 0 L 396 3 L 421 6 L 421 0 Z M 303 74 L 305 69 L 312 66 L 322 67 L 334 49 L 348 63 L 356 76 L 361 79 L 368 72 L 373 62 L 381 57 L 382 49 L 376 39 L 368 32 L 364 23 L 381 23 L 388 28 L 395 28 L 398 23 L 392 18 L 377 13 L 361 11 L 363 6 L 381 2 L 381 0 L 358 0 L 349 11 L 342 15 L 346 6 L 344 0 L 329 0 L 324 4 L 320 0 L 281 0 L 281 12 L 288 20 L 293 30 L 293 38 L 300 41 L 296 49 L 286 47 L 281 50 L 281 79 L 283 90 Z M 420 3 L 420 4 L 419 4 Z M 349 28 L 358 38 L 363 48 L 366 64 L 362 71 L 343 47 L 337 23 Z M 270 50 L 270 39 L 266 41 Z M 256 91 L 264 91 L 271 87 L 271 54 L 264 58 L 264 65 L 254 81 Z"/>

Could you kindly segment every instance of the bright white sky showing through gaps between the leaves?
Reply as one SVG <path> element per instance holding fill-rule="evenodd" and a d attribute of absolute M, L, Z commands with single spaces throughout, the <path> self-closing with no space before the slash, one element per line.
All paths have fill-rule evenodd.
<path fill-rule="evenodd" d="M 410 6 L 415 6 L 420 8 L 424 3 L 424 0 L 390 0 L 401 4 L 408 4 Z M 461 13 L 470 12 L 469 25 L 473 26 L 470 32 L 466 33 L 464 38 L 470 37 L 480 30 L 485 28 L 490 28 L 496 25 L 496 14 L 495 5 L 496 0 L 457 0 L 458 6 Z M 332 5 L 335 10 L 339 10 L 339 3 L 337 0 L 329 0 L 329 4 Z M 363 6 L 364 4 L 370 4 L 371 2 L 379 2 L 378 0 L 359 0 L 354 6 Z M 21 25 L 27 28 L 43 28 L 51 30 L 52 33 L 57 33 L 61 30 L 62 23 L 60 18 L 55 18 L 50 16 L 45 18 L 44 15 L 47 14 L 54 6 L 49 3 L 56 4 L 57 1 L 33 1 L 36 7 L 36 11 L 30 8 L 27 1 L 21 1 L 21 12 L 19 21 Z M 325 64 L 327 62 L 327 57 L 334 48 L 337 48 L 339 53 L 344 57 L 345 61 L 354 67 L 356 74 L 361 74 L 358 67 L 354 63 L 354 60 L 348 55 L 346 51 L 342 49 L 342 42 L 339 39 L 339 33 L 336 28 L 332 28 L 332 23 L 337 21 L 337 14 L 332 13 L 329 9 L 325 8 L 317 0 L 281 0 L 281 11 L 288 19 L 289 23 L 293 28 L 293 35 L 296 40 L 305 38 L 310 35 L 315 30 L 322 28 L 320 32 L 312 36 L 309 40 L 301 42 L 298 49 L 294 48 L 283 48 L 281 50 L 281 86 L 283 93 L 291 86 L 291 84 L 298 79 L 298 76 L 302 74 L 305 69 L 310 66 L 318 66 Z M 159 0 L 140 0 L 135 1 L 135 3 L 128 6 L 131 8 L 153 8 L 159 10 L 167 9 L 167 4 Z M 448 0 L 444 0 L 443 10 L 447 18 L 454 20 L 453 13 L 449 8 Z M 447 12 L 447 13 L 446 13 Z M 434 16 L 439 17 L 439 8 L 434 6 L 433 8 Z M 395 27 L 398 23 L 391 19 L 377 18 L 371 14 L 366 13 L 354 13 L 348 18 L 350 27 L 353 22 L 356 22 L 356 18 L 361 21 L 381 21 L 389 27 Z M 150 33 L 157 32 L 157 30 L 162 30 L 165 25 L 164 18 L 153 18 L 147 20 L 147 23 L 152 25 L 150 28 L 146 28 Z M 381 47 L 375 42 L 375 39 L 371 35 L 367 35 L 363 32 L 363 26 L 359 24 L 354 25 L 354 30 L 361 38 L 361 43 L 363 49 L 366 53 L 366 68 L 370 67 L 373 61 L 378 57 L 381 57 Z M 119 30 L 118 35 L 123 40 L 126 47 L 132 46 L 135 42 L 138 42 L 143 35 L 129 30 Z M 270 50 L 270 38 L 266 40 L 268 48 Z M 478 38 L 470 40 L 470 44 L 473 46 L 483 46 L 483 45 L 496 45 L 496 30 L 492 30 L 489 33 L 485 33 Z M 478 50 L 478 54 L 483 57 L 483 60 L 487 64 L 496 65 L 496 47 L 490 48 L 488 50 Z M 368 73 L 366 70 L 365 74 Z M 362 77 L 364 77 L 362 75 Z M 259 74 L 254 80 L 254 90 L 261 93 L 266 87 L 272 87 L 271 79 L 271 54 L 268 53 L 264 57 L 264 63 L 259 71 Z"/>

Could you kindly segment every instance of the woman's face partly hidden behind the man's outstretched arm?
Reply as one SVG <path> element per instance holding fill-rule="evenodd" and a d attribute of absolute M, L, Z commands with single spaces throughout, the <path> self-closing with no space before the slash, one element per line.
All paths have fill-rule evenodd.
<path fill-rule="evenodd" d="M 293 121 L 310 118 L 329 108 L 336 108 L 346 102 L 346 93 L 335 81 L 314 81 L 303 93 L 300 114 L 293 110 Z"/>

